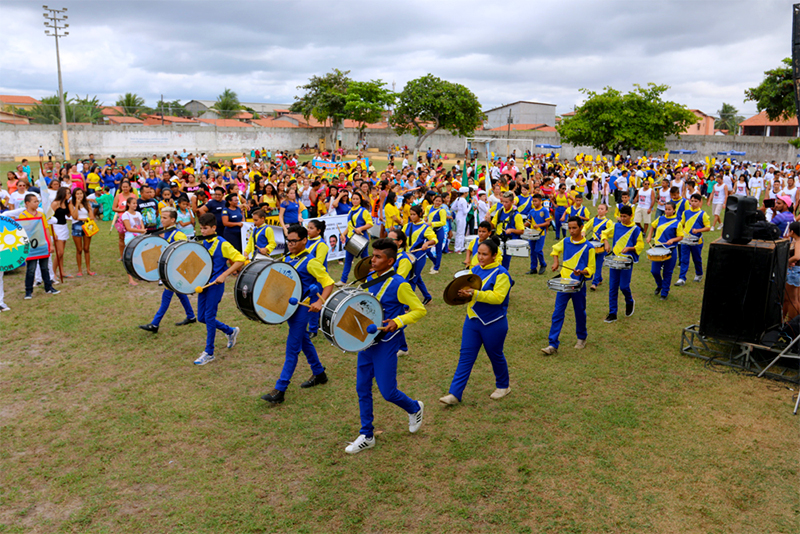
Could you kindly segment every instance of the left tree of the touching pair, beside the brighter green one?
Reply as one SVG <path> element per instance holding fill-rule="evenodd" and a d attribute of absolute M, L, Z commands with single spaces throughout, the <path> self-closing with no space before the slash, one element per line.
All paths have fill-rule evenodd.
<path fill-rule="evenodd" d="M 303 96 L 294 97 L 295 102 L 289 108 L 294 113 L 302 113 L 308 120 L 314 117 L 326 125 L 330 121 L 331 147 L 336 146 L 336 138 L 344 119 L 348 118 L 347 89 L 352 80 L 347 76 L 349 70 L 333 69 L 324 76 L 312 76 L 305 85 L 297 86 L 305 91 Z"/>

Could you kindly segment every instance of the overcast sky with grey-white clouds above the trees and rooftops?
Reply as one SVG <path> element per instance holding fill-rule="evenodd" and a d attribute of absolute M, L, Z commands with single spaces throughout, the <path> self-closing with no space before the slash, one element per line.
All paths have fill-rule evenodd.
<path fill-rule="evenodd" d="M 797 1 L 797 0 L 795 0 Z M 581 88 L 623 91 L 655 82 L 667 98 L 714 114 L 749 116 L 744 90 L 791 55 L 786 0 L 63 0 L 64 90 L 113 104 L 125 92 L 154 105 L 216 99 L 291 103 L 297 86 L 332 68 L 397 91 L 432 73 L 469 87 L 484 109 L 554 103 Z M 57 92 L 54 39 L 42 4 L 0 1 L 0 93 Z"/>

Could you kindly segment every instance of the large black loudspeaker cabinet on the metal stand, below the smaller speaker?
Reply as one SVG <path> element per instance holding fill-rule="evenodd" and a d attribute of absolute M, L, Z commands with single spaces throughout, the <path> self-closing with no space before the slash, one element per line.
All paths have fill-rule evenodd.
<path fill-rule="evenodd" d="M 788 261 L 788 239 L 711 243 L 700 335 L 759 343 L 764 332 L 779 327 Z"/>

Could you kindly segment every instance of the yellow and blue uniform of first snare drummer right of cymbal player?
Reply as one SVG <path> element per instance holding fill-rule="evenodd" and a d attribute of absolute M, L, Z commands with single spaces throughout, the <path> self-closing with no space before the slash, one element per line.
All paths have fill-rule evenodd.
<path fill-rule="evenodd" d="M 553 245 L 551 256 L 561 255 L 564 261 L 561 263 L 561 278 L 571 278 L 572 280 L 589 280 L 594 275 L 595 252 L 594 247 L 585 238 L 573 241 L 571 237 L 566 237 Z M 574 271 L 589 271 L 588 276 L 575 274 Z M 577 293 L 556 293 L 556 305 L 553 309 L 553 318 L 550 325 L 549 343 L 552 347 L 558 348 L 558 338 L 561 335 L 561 328 L 564 326 L 564 315 L 567 311 L 567 303 L 572 301 L 572 308 L 575 311 L 575 333 L 579 340 L 585 340 L 589 333 L 586 330 L 586 284 L 581 286 Z"/>

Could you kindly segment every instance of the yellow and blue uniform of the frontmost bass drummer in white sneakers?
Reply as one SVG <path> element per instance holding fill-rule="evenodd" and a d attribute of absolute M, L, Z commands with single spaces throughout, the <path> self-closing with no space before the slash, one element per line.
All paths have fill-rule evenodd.
<path fill-rule="evenodd" d="M 367 282 L 378 275 L 371 273 Z M 383 308 L 383 315 L 397 323 L 397 330 L 386 332 L 376 338 L 376 343 L 358 353 L 356 369 L 356 392 L 361 414 L 361 434 L 368 438 L 375 430 L 372 422 L 372 380 L 378 384 L 378 390 L 385 400 L 396 404 L 409 414 L 420 410 L 419 402 L 397 389 L 397 351 L 405 342 L 403 330 L 414 324 L 428 313 L 419 301 L 414 290 L 406 280 L 397 273 L 392 274 L 382 284 L 376 283 L 367 288 Z"/>

